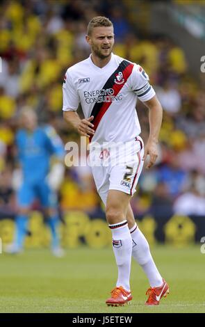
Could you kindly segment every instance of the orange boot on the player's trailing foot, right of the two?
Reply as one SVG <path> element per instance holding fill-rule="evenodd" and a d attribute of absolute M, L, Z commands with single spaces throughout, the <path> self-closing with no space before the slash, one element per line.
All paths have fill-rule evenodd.
<path fill-rule="evenodd" d="M 147 289 L 146 295 L 149 295 L 145 305 L 158 305 L 162 297 L 166 297 L 170 293 L 169 285 L 163 279 L 163 284 L 158 287 L 150 287 Z"/>

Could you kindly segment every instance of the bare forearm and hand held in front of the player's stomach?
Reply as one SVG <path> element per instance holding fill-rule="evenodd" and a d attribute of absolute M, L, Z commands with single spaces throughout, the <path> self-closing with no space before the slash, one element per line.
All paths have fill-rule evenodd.
<path fill-rule="evenodd" d="M 94 118 L 93 115 L 90 118 L 81 119 L 76 111 L 64 111 L 63 118 L 66 122 L 74 126 L 82 136 L 90 137 L 95 133 L 95 130 L 92 129 L 94 125 L 91 123 Z"/>

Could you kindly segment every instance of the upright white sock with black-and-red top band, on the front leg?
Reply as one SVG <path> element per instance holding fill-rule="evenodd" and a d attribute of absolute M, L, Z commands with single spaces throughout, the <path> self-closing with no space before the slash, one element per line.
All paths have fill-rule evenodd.
<path fill-rule="evenodd" d="M 114 225 L 109 225 L 113 236 L 113 251 L 118 267 L 118 278 L 116 286 L 122 286 L 126 291 L 130 291 L 130 269 L 132 239 L 127 225 L 127 221 L 122 221 Z"/>

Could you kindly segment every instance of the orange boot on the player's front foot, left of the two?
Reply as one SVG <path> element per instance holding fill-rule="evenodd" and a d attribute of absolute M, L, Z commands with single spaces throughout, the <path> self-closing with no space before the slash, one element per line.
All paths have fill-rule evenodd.
<path fill-rule="evenodd" d="M 118 307 L 129 303 L 132 298 L 131 292 L 128 292 L 122 286 L 119 286 L 113 289 L 111 297 L 107 299 L 106 304 L 108 306 Z"/>

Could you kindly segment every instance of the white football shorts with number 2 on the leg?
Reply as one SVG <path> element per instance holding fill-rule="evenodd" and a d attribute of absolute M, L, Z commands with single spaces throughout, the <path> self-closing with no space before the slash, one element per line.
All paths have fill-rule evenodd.
<path fill-rule="evenodd" d="M 136 136 L 127 143 L 91 145 L 90 166 L 97 192 L 104 204 L 111 189 L 133 196 L 144 163 L 142 138 Z"/>

